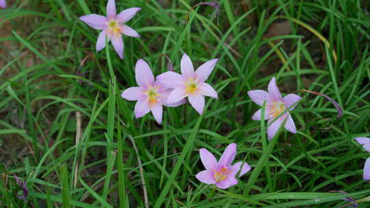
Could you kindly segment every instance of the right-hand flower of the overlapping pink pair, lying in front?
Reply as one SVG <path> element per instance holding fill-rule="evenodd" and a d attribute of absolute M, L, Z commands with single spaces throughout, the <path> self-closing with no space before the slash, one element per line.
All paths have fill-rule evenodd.
<path fill-rule="evenodd" d="M 167 72 L 159 75 L 157 80 L 163 83 L 167 88 L 174 90 L 167 99 L 168 103 L 175 103 L 188 97 L 192 105 L 199 114 L 203 114 L 205 99 L 204 96 L 210 96 L 217 99 L 217 92 L 208 83 L 206 79 L 212 73 L 214 66 L 219 59 L 210 60 L 199 66 L 194 72 L 194 66 L 188 57 L 184 54 L 181 59 L 181 73 Z"/>

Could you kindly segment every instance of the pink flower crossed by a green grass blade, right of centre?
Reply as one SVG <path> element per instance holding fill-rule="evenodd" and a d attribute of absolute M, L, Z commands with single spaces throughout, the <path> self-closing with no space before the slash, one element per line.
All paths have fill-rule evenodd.
<path fill-rule="evenodd" d="M 262 106 L 264 101 L 266 101 L 266 111 L 264 112 L 264 119 L 269 120 L 269 127 L 267 127 L 267 136 L 269 140 L 273 138 L 277 130 L 279 130 L 280 125 L 285 122 L 285 129 L 291 131 L 291 133 L 297 133 L 293 118 L 289 112 L 285 112 L 282 116 L 277 118 L 273 123 L 271 123 L 277 116 L 282 114 L 286 109 L 292 110 L 295 108 L 295 103 L 301 99 L 297 94 L 287 94 L 282 98 L 279 88 L 277 88 L 275 77 L 273 77 L 269 83 L 269 92 L 264 90 L 251 90 L 248 95 L 251 97 L 254 103 Z M 252 116 L 253 120 L 260 120 L 262 110 L 259 109 Z"/>

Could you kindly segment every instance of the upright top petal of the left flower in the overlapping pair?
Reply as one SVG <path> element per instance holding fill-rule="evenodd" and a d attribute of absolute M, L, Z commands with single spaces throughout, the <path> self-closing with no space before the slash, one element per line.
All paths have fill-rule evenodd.
<path fill-rule="evenodd" d="M 138 60 L 138 62 L 136 62 L 135 77 L 136 83 L 138 83 L 140 87 L 147 88 L 154 84 L 153 73 L 151 73 L 149 65 L 144 60 Z"/>

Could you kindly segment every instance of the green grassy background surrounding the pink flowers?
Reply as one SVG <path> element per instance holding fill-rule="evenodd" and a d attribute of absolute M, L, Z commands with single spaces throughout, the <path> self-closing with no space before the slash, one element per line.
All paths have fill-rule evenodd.
<path fill-rule="evenodd" d="M 111 44 L 96 53 L 98 31 L 77 19 L 105 14 L 105 0 L 15 0 L 0 10 L 0 207 L 145 207 L 144 187 L 156 208 L 340 207 L 370 195 L 369 153 L 353 140 L 370 136 L 369 1 L 222 0 L 219 24 L 207 5 L 186 23 L 196 3 L 117 1 L 117 11 L 143 8 L 127 23 L 142 38 L 124 38 L 124 60 Z M 220 58 L 208 79 L 219 99 L 206 99 L 203 116 L 183 105 L 166 107 L 162 126 L 151 114 L 135 120 L 120 94 L 136 86 L 136 61 L 159 75 L 166 54 L 179 72 L 182 53 L 195 67 Z M 273 76 L 304 99 L 292 113 L 297 134 L 267 142 L 247 90 L 266 90 Z M 343 116 L 301 89 L 335 99 Z M 214 191 L 195 179 L 198 150 L 219 157 L 231 142 L 252 170 Z M 14 175 L 27 180 L 27 203 Z"/>

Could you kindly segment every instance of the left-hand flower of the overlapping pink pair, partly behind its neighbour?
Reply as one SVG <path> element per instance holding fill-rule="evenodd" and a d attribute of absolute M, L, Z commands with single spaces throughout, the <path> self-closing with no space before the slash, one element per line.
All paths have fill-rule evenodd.
<path fill-rule="evenodd" d="M 151 73 L 149 65 L 144 60 L 136 62 L 135 77 L 138 87 L 128 88 L 122 92 L 121 96 L 127 101 L 138 101 L 135 105 L 136 118 L 143 117 L 151 112 L 158 124 L 161 124 L 162 105 L 176 107 L 186 103 L 185 99 L 171 104 L 166 102 L 171 89 L 154 80 L 153 73 Z"/>

